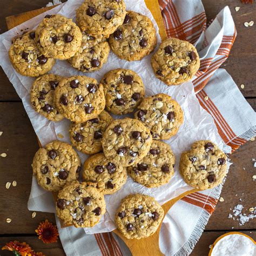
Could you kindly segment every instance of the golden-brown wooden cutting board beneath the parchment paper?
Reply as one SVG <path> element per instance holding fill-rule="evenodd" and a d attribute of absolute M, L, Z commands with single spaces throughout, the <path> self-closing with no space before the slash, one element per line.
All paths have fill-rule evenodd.
<path fill-rule="evenodd" d="M 154 16 L 154 19 L 156 20 L 156 22 L 158 24 L 159 34 L 161 36 L 161 39 L 165 40 L 167 38 L 167 35 L 166 35 L 165 27 L 164 27 L 163 18 L 161 16 L 161 12 L 160 12 L 160 9 L 159 9 L 158 1 L 156 1 L 156 0 L 145 0 L 145 3 L 147 5 L 147 8 L 149 8 L 150 11 L 152 12 L 152 15 Z M 31 19 L 31 18 L 39 15 L 39 14 L 42 14 L 42 12 L 45 12 L 45 11 L 48 11 L 48 10 L 52 9 L 53 7 L 54 6 L 46 7 L 46 8 L 42 8 L 42 9 L 38 9 L 38 10 L 24 12 L 24 13 L 18 14 L 18 15 L 13 15 L 13 16 L 6 17 L 5 20 L 6 20 L 6 24 L 8 26 L 8 29 L 12 29 L 17 25 L 19 25 L 19 24 L 21 24 L 25 21 L 28 21 L 28 19 Z M 40 143 L 39 143 L 39 145 L 40 145 Z M 187 194 L 191 194 L 191 193 L 197 192 L 197 191 L 199 191 L 199 190 L 193 189 L 191 191 L 187 191 L 187 192 L 181 194 L 179 197 L 176 197 L 176 198 L 168 201 L 164 205 L 162 205 L 162 207 L 164 208 L 165 214 L 170 210 L 172 205 L 174 203 L 176 203 L 179 199 L 185 197 Z M 54 197 L 56 198 L 56 194 L 54 195 Z M 118 230 L 114 230 L 113 232 L 116 233 L 120 238 L 123 239 L 125 244 L 129 247 L 133 256 L 142 256 L 142 255 L 159 256 L 159 255 L 163 255 L 163 253 L 161 253 L 160 249 L 159 249 L 160 226 L 159 226 L 158 230 L 156 231 L 156 233 L 154 233 L 153 235 L 151 235 L 148 238 L 143 238 L 143 239 L 140 239 L 140 240 L 127 239 Z"/>

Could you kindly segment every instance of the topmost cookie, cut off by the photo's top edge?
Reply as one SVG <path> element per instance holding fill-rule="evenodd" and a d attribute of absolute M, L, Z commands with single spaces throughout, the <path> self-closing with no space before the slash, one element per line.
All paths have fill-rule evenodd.
<path fill-rule="evenodd" d="M 126 6 L 123 0 L 85 0 L 77 9 L 77 24 L 90 35 L 109 37 L 124 22 Z"/>

